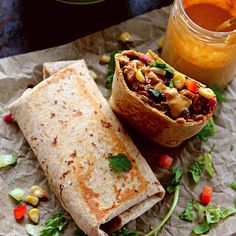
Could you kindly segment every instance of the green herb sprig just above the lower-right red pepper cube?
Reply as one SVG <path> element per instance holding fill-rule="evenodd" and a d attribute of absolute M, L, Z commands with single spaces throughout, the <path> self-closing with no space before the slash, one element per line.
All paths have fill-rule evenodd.
<path fill-rule="evenodd" d="M 188 168 L 188 171 L 191 173 L 195 183 L 199 182 L 203 170 L 206 170 L 207 174 L 210 177 L 213 177 L 215 175 L 211 155 L 214 146 L 215 145 L 212 146 L 211 150 L 208 153 L 203 153 L 202 155 L 200 155 L 197 161 Z"/>

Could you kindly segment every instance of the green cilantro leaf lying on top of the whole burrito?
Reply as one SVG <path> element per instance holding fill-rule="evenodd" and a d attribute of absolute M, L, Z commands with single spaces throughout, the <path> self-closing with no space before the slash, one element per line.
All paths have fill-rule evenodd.
<path fill-rule="evenodd" d="M 118 153 L 117 155 L 109 154 L 108 161 L 110 167 L 118 173 L 132 168 L 131 161 L 123 153 Z"/>

